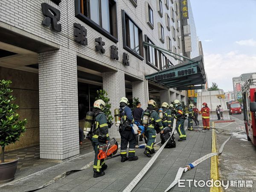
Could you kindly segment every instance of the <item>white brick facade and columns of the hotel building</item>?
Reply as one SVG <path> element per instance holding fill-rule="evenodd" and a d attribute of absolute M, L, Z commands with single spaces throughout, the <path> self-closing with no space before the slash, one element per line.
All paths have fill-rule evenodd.
<path fill-rule="evenodd" d="M 104 35 L 88 26 L 83 21 L 75 17 L 75 1 L 62 0 L 56 5 L 51 0 L 1 0 L 0 1 L 0 26 L 2 23 L 8 25 L 10 31 L 19 29 L 26 36 L 34 35 L 54 44 L 58 44 L 59 50 L 41 52 L 38 54 L 38 74 L 39 74 L 39 108 L 40 108 L 40 147 L 41 158 L 65 159 L 79 154 L 78 143 L 78 90 L 77 90 L 77 55 L 87 58 L 100 66 L 107 66 L 114 69 L 113 72 L 102 73 L 103 89 L 108 92 L 112 104 L 112 115 L 115 108 L 119 108 L 119 99 L 125 96 L 125 74 L 134 76 L 138 81 L 132 82 L 132 96 L 139 97 L 142 107 L 146 108 L 148 101 L 148 84 L 145 75 L 155 73 L 157 70 L 146 64 L 145 49 L 143 48 L 144 60 L 140 60 L 125 49 L 123 49 L 122 39 L 122 16 L 121 10 L 125 10 L 132 20 L 142 29 L 144 35 L 157 46 L 168 49 L 168 37 L 171 38 L 172 47 L 177 46 L 176 40 L 172 38 L 172 31 L 166 27 L 166 14 L 171 18 L 172 7 L 175 9 L 175 2 L 169 1 L 169 9 L 163 2 L 163 17 L 158 13 L 159 0 L 137 1 L 135 8 L 129 0 L 116 0 L 117 9 L 117 33 L 118 42 L 114 43 Z M 61 12 L 61 32 L 54 32 L 50 27 L 43 26 L 44 15 L 41 10 L 41 3 L 48 3 L 50 6 Z M 148 25 L 148 15 L 145 14 L 148 5 L 153 9 L 154 29 Z M 179 19 L 179 15 L 175 18 Z M 170 27 L 176 29 L 176 20 L 170 19 Z M 74 41 L 73 23 L 79 23 L 87 29 L 88 45 L 80 45 Z M 157 23 L 161 23 L 164 28 L 165 42 L 159 40 L 159 29 Z M 180 30 L 179 30 L 180 31 Z M 28 34 L 28 35 L 27 35 Z M 180 36 L 180 32 L 176 32 Z M 105 53 L 95 51 L 95 38 L 102 37 L 105 42 Z M 40 40 L 41 43 L 47 41 Z M 118 47 L 119 60 L 111 59 L 110 46 Z M 173 51 L 173 50 L 172 50 Z M 127 52 L 130 56 L 130 66 L 122 64 L 122 53 Z M 168 56 L 168 55 L 166 55 Z M 172 64 L 179 61 L 172 57 L 167 57 Z M 141 81 L 143 80 L 143 81 Z M 177 96 L 180 92 L 177 92 Z M 161 100 L 166 101 L 166 97 L 161 95 Z M 176 93 L 168 96 L 168 102 L 176 99 Z M 180 95 L 179 95 L 180 99 Z M 164 102 L 161 101 L 161 102 Z M 110 136 L 119 138 L 119 133 L 113 125 Z"/>

